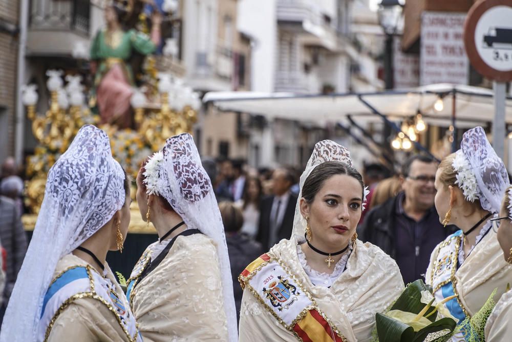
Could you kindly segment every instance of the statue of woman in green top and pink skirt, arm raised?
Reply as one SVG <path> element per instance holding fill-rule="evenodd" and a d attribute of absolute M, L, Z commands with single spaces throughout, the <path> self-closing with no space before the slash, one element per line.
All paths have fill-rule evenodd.
<path fill-rule="evenodd" d="M 151 37 L 135 29 L 124 30 L 121 24 L 127 8 L 118 1 L 105 7 L 106 27 L 100 30 L 91 45 L 91 70 L 95 73 L 91 105 L 98 106 L 102 124 L 131 126 L 130 98 L 134 75 L 128 64 L 134 51 L 147 55 L 160 44 L 159 11 L 152 17 Z"/>

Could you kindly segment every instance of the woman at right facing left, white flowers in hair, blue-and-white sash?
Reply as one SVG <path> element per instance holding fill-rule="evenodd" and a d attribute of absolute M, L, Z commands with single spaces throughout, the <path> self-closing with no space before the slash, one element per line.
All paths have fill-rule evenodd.
<path fill-rule="evenodd" d="M 495 288 L 497 298 L 505 292 L 512 267 L 503 260 L 494 233 L 489 233 L 490 219 L 499 212 L 509 185 L 505 165 L 481 127 L 465 132 L 460 147 L 442 160 L 435 180 L 440 220 L 460 230 L 434 249 L 425 277 L 438 302 L 456 296 L 444 306 L 462 323 L 482 308 Z M 453 340 L 472 334 L 467 325 L 460 328 Z"/>

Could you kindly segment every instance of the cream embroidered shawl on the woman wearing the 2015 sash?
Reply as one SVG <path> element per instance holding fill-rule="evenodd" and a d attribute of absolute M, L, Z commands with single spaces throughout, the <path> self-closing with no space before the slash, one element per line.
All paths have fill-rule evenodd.
<path fill-rule="evenodd" d="M 296 246 L 297 240 L 292 237 L 281 240 L 269 253 L 284 261 L 350 342 L 371 341 L 375 313 L 388 309 L 404 288 L 395 261 L 380 248 L 357 240 L 347 269 L 331 288 L 326 288 L 311 283 L 298 259 Z M 296 341 L 247 288 L 242 298 L 239 338 L 241 342 Z"/>

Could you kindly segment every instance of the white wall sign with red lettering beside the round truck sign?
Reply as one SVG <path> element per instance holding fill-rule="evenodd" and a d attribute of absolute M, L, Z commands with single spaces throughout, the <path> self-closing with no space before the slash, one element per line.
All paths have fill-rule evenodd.
<path fill-rule="evenodd" d="M 465 13 L 423 12 L 420 84 L 467 84 L 469 61 L 464 49 Z"/>

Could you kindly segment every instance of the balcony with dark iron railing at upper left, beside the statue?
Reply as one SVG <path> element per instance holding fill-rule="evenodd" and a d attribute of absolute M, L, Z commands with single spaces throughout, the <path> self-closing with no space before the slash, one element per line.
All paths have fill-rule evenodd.
<path fill-rule="evenodd" d="M 89 0 L 31 0 L 28 54 L 71 55 L 77 42 L 89 45 Z"/>

